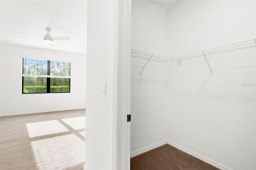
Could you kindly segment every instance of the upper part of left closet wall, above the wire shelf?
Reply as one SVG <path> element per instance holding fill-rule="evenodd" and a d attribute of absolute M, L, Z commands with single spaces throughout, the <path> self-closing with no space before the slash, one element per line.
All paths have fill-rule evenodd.
<path fill-rule="evenodd" d="M 146 0 L 132 1 L 132 49 L 168 54 L 167 11 Z"/>

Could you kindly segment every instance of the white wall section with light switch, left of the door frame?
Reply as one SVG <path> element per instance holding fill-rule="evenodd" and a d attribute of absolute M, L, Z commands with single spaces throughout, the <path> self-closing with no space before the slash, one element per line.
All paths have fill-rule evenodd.
<path fill-rule="evenodd" d="M 86 169 L 112 169 L 114 1 L 88 1 Z M 106 83 L 106 97 L 102 84 Z"/>

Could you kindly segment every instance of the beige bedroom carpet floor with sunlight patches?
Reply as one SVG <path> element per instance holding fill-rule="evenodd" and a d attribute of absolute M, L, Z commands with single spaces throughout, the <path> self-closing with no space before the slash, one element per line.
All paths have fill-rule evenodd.
<path fill-rule="evenodd" d="M 85 109 L 0 117 L 1 170 L 82 170 Z"/>

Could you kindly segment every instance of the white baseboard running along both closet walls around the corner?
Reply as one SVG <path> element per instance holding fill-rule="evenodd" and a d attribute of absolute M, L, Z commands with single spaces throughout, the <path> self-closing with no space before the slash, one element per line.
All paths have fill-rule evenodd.
<path fill-rule="evenodd" d="M 157 143 L 152 144 L 150 146 L 146 146 L 145 148 L 142 148 L 142 149 L 136 150 L 134 152 L 131 152 L 131 158 L 134 157 L 134 156 L 137 156 L 139 154 L 142 154 L 144 152 L 148 152 L 149 150 L 152 150 L 152 149 L 157 148 L 159 146 L 162 146 L 164 144 L 169 144 L 169 145 L 171 145 L 171 146 L 173 146 L 173 147 L 175 147 L 179 150 L 182 150 L 183 152 L 186 152 L 187 154 L 190 154 L 190 155 L 192 155 L 192 156 L 194 156 L 194 157 L 196 157 L 196 158 L 198 158 L 198 159 L 200 159 L 200 160 L 202 160 L 202 161 L 204 161 L 204 162 L 206 162 L 206 163 L 208 163 L 212 166 L 215 166 L 216 168 L 219 168 L 221 170 L 232 170 L 232 168 L 228 168 L 227 166 L 224 166 L 224 165 L 222 165 L 218 162 L 215 162 L 214 160 L 206 158 L 205 156 L 202 156 L 202 155 L 200 155 L 200 154 L 198 154 L 198 153 L 196 153 L 196 152 L 194 152 L 194 151 L 192 151 L 188 148 L 180 146 L 179 144 L 176 144 L 176 143 L 174 143 L 170 140 L 163 140 L 161 142 L 157 142 Z"/>

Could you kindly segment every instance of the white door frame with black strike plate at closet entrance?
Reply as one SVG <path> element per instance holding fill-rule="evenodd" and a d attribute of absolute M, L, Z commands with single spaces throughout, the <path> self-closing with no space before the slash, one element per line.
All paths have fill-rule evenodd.
<path fill-rule="evenodd" d="M 130 170 L 131 3 L 114 1 L 113 170 Z"/>

